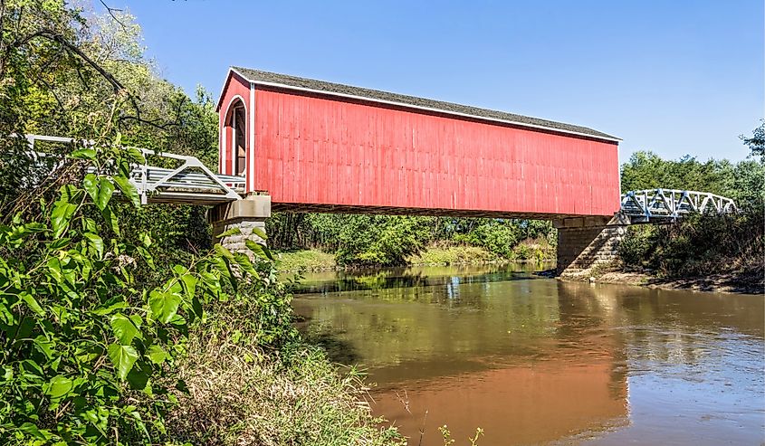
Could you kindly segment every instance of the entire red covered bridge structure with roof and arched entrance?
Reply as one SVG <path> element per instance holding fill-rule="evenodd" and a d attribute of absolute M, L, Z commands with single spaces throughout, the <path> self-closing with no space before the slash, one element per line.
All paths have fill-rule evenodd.
<path fill-rule="evenodd" d="M 438 100 L 232 68 L 222 174 L 274 210 L 537 219 L 619 209 L 618 138 Z"/>

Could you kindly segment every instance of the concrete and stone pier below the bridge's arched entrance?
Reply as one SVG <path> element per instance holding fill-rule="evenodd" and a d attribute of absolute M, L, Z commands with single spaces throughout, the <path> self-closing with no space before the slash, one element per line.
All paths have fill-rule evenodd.
<path fill-rule="evenodd" d="M 265 232 L 265 221 L 271 217 L 271 195 L 246 195 L 242 200 L 235 200 L 226 204 L 218 204 L 209 214 L 209 221 L 213 223 L 213 242 L 221 243 L 232 252 L 244 252 L 251 254 L 244 241 L 264 242 L 253 228 Z M 238 228 L 242 233 L 225 236 L 219 240 L 217 236 L 228 230 Z"/>

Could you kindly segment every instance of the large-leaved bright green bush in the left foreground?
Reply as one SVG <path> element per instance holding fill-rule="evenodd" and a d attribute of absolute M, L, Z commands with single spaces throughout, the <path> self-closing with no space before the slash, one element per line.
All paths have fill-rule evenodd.
<path fill-rule="evenodd" d="M 55 202 L 44 204 L 42 220 L 16 217 L 0 226 L 4 438 L 156 440 L 162 413 L 174 400 L 170 365 L 184 351 L 189 326 L 203 317 L 203 304 L 235 286 L 234 257 L 220 246 L 191 268 L 167 267 L 168 279 L 157 288 L 135 280 L 139 262 L 150 260 L 150 240 L 124 242 L 119 226 L 111 226 L 113 192 L 135 194 L 120 180 L 120 172 L 138 161 L 131 155 L 117 146 L 98 147 L 96 173 L 81 187 L 63 185 Z M 82 212 L 86 208 L 106 224 Z M 253 270 L 246 257 L 236 261 Z"/>

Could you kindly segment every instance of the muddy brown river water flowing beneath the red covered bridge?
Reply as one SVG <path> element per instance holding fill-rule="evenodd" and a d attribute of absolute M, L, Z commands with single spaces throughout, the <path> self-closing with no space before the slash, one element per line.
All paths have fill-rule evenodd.
<path fill-rule="evenodd" d="M 314 273 L 293 303 L 410 445 L 443 445 L 444 424 L 456 446 L 477 427 L 479 445 L 765 441 L 765 298 L 533 269 Z"/>

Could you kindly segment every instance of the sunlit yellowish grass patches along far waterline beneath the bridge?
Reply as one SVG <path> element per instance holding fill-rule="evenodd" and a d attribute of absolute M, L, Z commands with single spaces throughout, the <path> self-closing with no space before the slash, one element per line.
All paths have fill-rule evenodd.
<path fill-rule="evenodd" d="M 317 249 L 274 251 L 274 254 L 278 261 L 277 269 L 282 272 L 355 268 L 353 265 L 339 265 L 335 261 L 334 254 Z M 433 244 L 426 247 L 424 251 L 407 257 L 406 266 L 483 265 L 511 261 L 555 261 L 555 248 L 549 244 L 524 241 L 512 249 L 510 257 L 502 257 L 479 246 Z"/>

